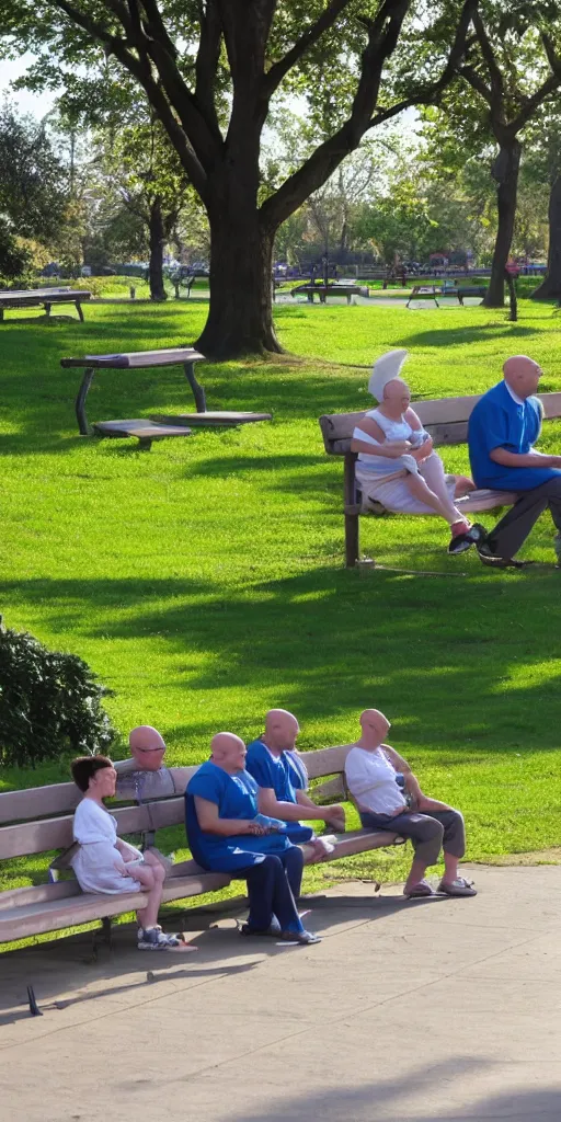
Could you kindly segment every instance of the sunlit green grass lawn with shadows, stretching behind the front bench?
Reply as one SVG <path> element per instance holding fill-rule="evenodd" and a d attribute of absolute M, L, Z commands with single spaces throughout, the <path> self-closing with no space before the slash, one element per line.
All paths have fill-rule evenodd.
<path fill-rule="evenodd" d="M 561 320 L 521 301 L 517 324 L 479 307 L 283 306 L 294 359 L 199 367 L 210 408 L 270 410 L 274 422 L 199 431 L 138 451 L 77 435 L 81 371 L 63 356 L 169 347 L 201 330 L 205 306 L 90 306 L 86 322 L 0 329 L 0 610 L 53 647 L 82 655 L 116 696 L 123 735 L 154 724 L 172 764 L 203 760 L 211 735 L 243 737 L 270 706 L 293 710 L 305 748 L 348 742 L 377 706 L 423 785 L 466 812 L 469 857 L 559 840 L 560 581 L 553 569 L 489 572 L 449 558 L 435 518 L 362 519 L 362 545 L 386 570 L 344 571 L 340 460 L 321 413 L 366 406 L 373 359 L 411 350 L 416 396 L 480 392 L 509 353 L 530 352 L 561 389 Z M 92 420 L 192 410 L 180 369 L 107 371 Z M 559 424 L 544 448 L 559 450 Z M 465 448 L 447 449 L 450 470 Z M 491 524 L 489 515 L 482 521 Z M 526 555 L 553 560 L 544 516 Z M 429 572 L 431 576 L 424 576 Z M 6 771 L 1 789 L 59 781 L 67 761 Z M 351 817 L 352 821 L 352 817 Z M 184 846 L 181 830 L 167 839 Z M 39 863 L 40 864 L 40 863 Z M 399 852 L 310 874 L 403 873 Z M 19 883 L 38 863 L 4 872 Z"/>

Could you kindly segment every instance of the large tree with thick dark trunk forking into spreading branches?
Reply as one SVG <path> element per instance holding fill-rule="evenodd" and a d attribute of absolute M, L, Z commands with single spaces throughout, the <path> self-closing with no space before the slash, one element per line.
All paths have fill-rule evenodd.
<path fill-rule="evenodd" d="M 211 229 L 206 353 L 277 350 L 270 306 L 275 233 L 401 109 L 451 81 L 477 0 L 0 0 L 13 46 L 82 66 L 100 52 L 144 89 L 202 199 Z M 12 36 L 10 39 L 9 37 Z M 399 88 L 402 39 L 419 65 Z M 47 57 L 45 57 L 47 56 Z M 388 82 L 383 89 L 383 77 Z M 321 81 L 319 81 L 321 79 Z M 261 134 L 278 93 L 298 92 L 324 138 L 259 205 Z M 227 126 L 222 118 L 227 116 Z"/>

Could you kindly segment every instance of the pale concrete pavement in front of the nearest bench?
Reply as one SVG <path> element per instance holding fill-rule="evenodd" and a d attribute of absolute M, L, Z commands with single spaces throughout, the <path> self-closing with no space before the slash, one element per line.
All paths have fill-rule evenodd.
<path fill-rule="evenodd" d="M 471 872 L 472 900 L 341 884 L 310 948 L 200 912 L 196 955 L 130 927 L 93 964 L 86 935 L 0 955 L 2 1122 L 559 1122 L 561 870 Z"/>

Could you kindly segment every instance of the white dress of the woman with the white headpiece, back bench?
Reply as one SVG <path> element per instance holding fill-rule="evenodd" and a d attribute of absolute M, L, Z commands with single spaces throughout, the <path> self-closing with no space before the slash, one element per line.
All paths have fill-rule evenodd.
<path fill-rule="evenodd" d="M 424 429 L 412 429 L 404 416 L 401 421 L 392 421 L 389 417 L 385 417 L 379 410 L 369 410 L 366 416 L 376 421 L 376 424 L 385 433 L 386 440 L 408 440 L 410 444 L 419 448 L 429 436 Z M 386 511 L 394 511 L 396 514 L 434 514 L 432 507 L 426 506 L 425 503 L 411 494 L 405 478 L 401 475 L 405 469 L 422 476 L 432 490 L 445 488 L 450 499 L 453 500 L 456 477 L 444 473 L 444 466 L 436 452 L 431 452 L 422 463 L 417 463 L 407 453 L 390 460 L 385 456 L 376 456 L 375 447 L 379 448 L 380 445 L 369 433 L 356 427 L 352 436 L 355 440 L 373 444 L 373 454 L 358 453 L 355 469 L 357 484 L 367 499 L 381 503 Z"/>

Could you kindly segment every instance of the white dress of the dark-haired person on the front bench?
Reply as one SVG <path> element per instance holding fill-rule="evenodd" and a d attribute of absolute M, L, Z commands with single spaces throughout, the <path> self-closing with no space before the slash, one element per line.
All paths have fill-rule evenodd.
<path fill-rule="evenodd" d="M 83 892 L 141 891 L 139 881 L 121 876 L 116 868 L 122 857 L 116 847 L 117 822 L 109 810 L 93 799 L 82 799 L 74 813 L 73 834 L 80 849 L 72 858 L 72 867 Z M 139 849 L 127 846 L 135 861 L 144 861 Z"/>

